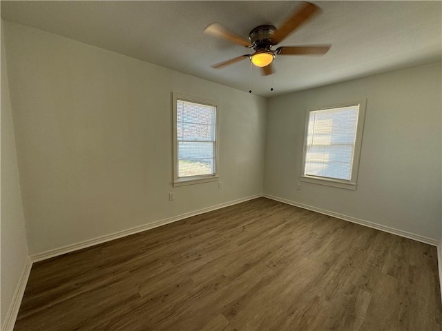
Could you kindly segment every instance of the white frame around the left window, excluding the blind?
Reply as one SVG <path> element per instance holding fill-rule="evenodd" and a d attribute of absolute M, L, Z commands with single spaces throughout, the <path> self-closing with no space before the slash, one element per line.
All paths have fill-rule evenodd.
<path fill-rule="evenodd" d="M 198 176 L 189 177 L 178 177 L 178 139 L 177 139 L 177 101 L 189 101 L 193 103 L 200 103 L 207 106 L 213 106 L 215 110 L 215 173 L 214 174 L 204 174 Z M 218 181 L 218 170 L 219 170 L 219 135 L 220 135 L 220 105 L 218 101 L 202 99 L 198 97 L 191 97 L 185 94 L 173 93 L 173 186 L 183 186 L 192 185 L 198 183 L 208 183 L 211 181 Z"/>

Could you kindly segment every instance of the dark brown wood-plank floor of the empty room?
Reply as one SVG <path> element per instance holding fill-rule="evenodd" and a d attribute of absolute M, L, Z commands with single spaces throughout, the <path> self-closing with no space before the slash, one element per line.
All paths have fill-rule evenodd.
<path fill-rule="evenodd" d="M 436 247 L 260 198 L 35 263 L 15 330 L 441 330 Z"/>

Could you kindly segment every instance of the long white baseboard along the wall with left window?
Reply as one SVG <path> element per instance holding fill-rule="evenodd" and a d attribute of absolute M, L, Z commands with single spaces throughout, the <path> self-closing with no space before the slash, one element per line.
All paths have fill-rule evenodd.
<path fill-rule="evenodd" d="M 122 231 L 115 232 L 115 233 L 112 233 L 112 234 L 106 234 L 106 235 L 104 235 L 102 237 L 97 237 L 97 238 L 94 238 L 94 239 L 88 239 L 86 241 L 81 241 L 80 243 L 74 243 L 72 245 L 66 245 L 66 246 L 61 247 L 61 248 L 55 248 L 54 250 L 48 250 L 46 252 L 32 254 L 30 259 L 31 259 L 32 262 L 43 261 L 43 260 L 46 260 L 46 259 L 50 259 L 51 257 L 57 257 L 57 256 L 62 255 L 62 254 L 74 252 L 75 250 L 81 250 L 83 248 L 88 248 L 88 247 L 93 246 L 93 245 L 98 245 L 99 243 L 105 243 L 106 241 L 111 241 L 111 240 L 114 240 L 114 239 L 119 239 L 119 238 L 122 238 L 122 237 L 130 236 L 131 234 L 135 234 L 135 233 L 138 233 L 138 232 L 143 232 L 143 231 L 146 231 L 146 230 L 157 228 L 159 226 L 166 225 L 166 224 L 169 224 L 169 223 L 173 223 L 173 222 L 176 222 L 176 221 L 180 221 L 180 220 L 186 219 L 188 217 L 193 217 L 193 216 L 196 216 L 196 215 L 199 215 L 199 214 L 204 214 L 204 212 L 211 212 L 213 210 L 217 210 L 217 209 L 224 208 L 224 207 L 229 207 L 229 205 L 236 205 L 237 203 L 242 203 L 242 202 L 249 201 L 249 200 L 252 200 L 252 199 L 256 199 L 256 198 L 259 198 L 259 197 L 262 197 L 262 194 L 256 194 L 256 195 L 253 195 L 253 196 L 250 196 L 250 197 L 229 201 L 227 203 L 220 203 L 219 205 L 213 205 L 213 206 L 208 207 L 208 208 L 203 208 L 203 209 L 200 209 L 200 210 L 196 210 L 194 212 L 187 212 L 185 214 L 180 214 L 180 215 L 177 215 L 175 217 L 169 217 L 167 219 L 160 219 L 158 221 L 153 221 L 151 223 L 146 223 L 144 225 L 140 225 L 140 226 L 137 226 L 135 228 L 130 228 L 130 229 L 127 229 L 127 230 L 122 230 Z"/>

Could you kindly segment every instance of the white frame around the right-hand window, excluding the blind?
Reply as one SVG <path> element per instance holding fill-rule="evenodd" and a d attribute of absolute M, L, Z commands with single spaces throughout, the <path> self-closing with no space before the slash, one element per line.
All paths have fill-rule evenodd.
<path fill-rule="evenodd" d="M 336 188 L 345 188 L 347 190 L 356 190 L 358 186 L 358 171 L 359 171 L 359 161 L 361 159 L 361 149 L 362 149 L 362 140 L 363 140 L 363 131 L 364 131 L 364 123 L 365 123 L 365 109 L 366 109 L 367 100 L 358 100 L 351 101 L 345 103 L 337 103 L 329 106 L 322 106 L 317 108 L 312 108 L 307 110 L 305 117 L 305 132 L 304 132 L 304 148 L 302 150 L 302 167 L 301 167 L 301 176 L 300 180 L 308 183 L 315 183 L 320 185 L 328 185 L 334 186 Z M 334 108 L 344 108 L 351 106 L 358 106 L 358 123 L 356 125 L 356 139 L 354 143 L 354 154 L 353 154 L 353 163 L 352 163 L 352 178 L 347 180 L 344 179 L 335 179 L 329 177 L 316 177 L 312 175 L 305 174 L 305 160 L 307 153 L 307 134 L 309 130 L 309 115 L 310 112 L 314 112 L 316 110 L 329 110 Z"/>

